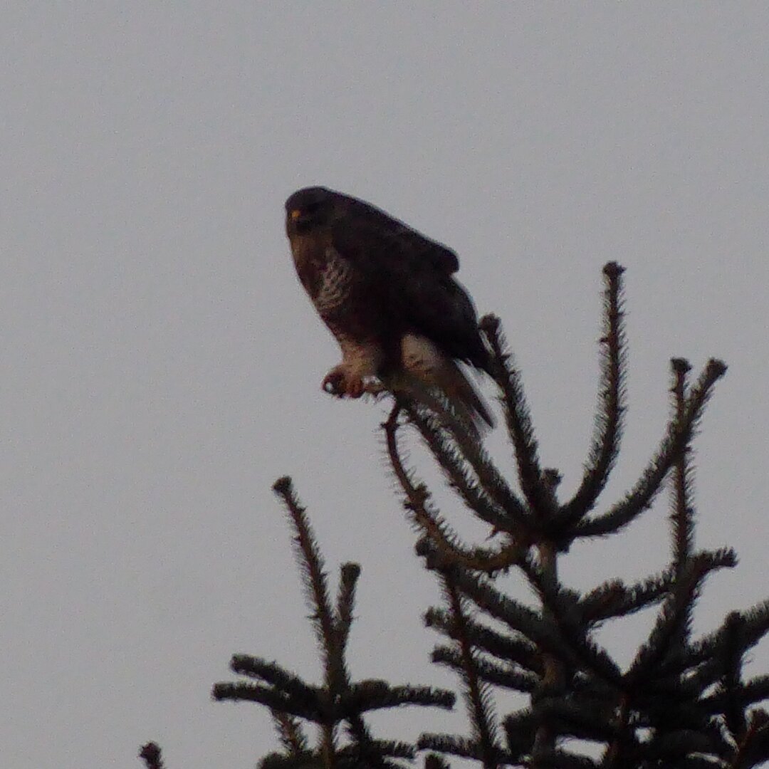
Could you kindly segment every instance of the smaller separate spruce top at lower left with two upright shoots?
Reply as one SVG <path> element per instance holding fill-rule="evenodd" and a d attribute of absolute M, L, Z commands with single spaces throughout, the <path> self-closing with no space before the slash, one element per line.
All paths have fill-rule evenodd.
<path fill-rule="evenodd" d="M 414 746 L 373 737 L 364 714 L 403 705 L 451 708 L 454 694 L 411 684 L 393 686 L 378 680 L 351 681 L 345 652 L 355 618 L 355 588 L 360 567 L 351 563 L 341 566 L 337 600 L 332 609 L 321 553 L 305 510 L 288 478 L 278 480 L 274 488 L 284 501 L 294 528 L 298 564 L 313 610 L 310 619 L 324 660 L 324 683 L 322 686 L 307 684 L 276 662 L 236 654 L 232 658 L 232 670 L 255 682 L 215 684 L 213 696 L 217 700 L 257 702 L 271 712 L 284 750 L 266 756 L 261 761 L 262 767 L 401 767 L 398 759 L 412 759 Z M 319 727 L 315 747 L 310 747 L 301 728 L 302 721 Z M 346 744 L 342 744 L 341 727 L 345 727 L 348 735 Z"/>

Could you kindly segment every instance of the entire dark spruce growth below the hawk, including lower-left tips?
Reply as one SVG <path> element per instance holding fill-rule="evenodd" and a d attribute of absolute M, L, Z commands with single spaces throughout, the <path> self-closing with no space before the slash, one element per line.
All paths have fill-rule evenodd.
<path fill-rule="evenodd" d="M 491 767 L 532 769 L 747 769 L 769 761 L 769 675 L 747 678 L 747 653 L 769 629 L 769 601 L 731 611 L 717 628 L 694 637 L 692 618 L 704 581 L 733 568 L 731 548 L 694 547 L 691 443 L 704 407 L 726 366 L 707 363 L 691 381 L 687 361 L 671 361 L 671 418 L 638 481 L 599 506 L 618 457 L 625 412 L 623 269 L 604 267 L 604 335 L 595 430 L 577 490 L 560 498 L 560 474 L 543 468 L 521 376 L 494 316 L 481 321 L 494 359 L 504 427 L 514 451 L 517 484 L 498 469 L 473 431 L 448 403 L 392 395 L 383 424 L 388 461 L 416 551 L 438 580 L 440 606 L 425 624 L 444 639 L 432 661 L 454 671 L 468 715 L 467 734 L 426 732 L 416 744 L 376 737 L 366 721 L 375 710 L 404 705 L 452 707 L 454 694 L 415 684 L 355 681 L 346 658 L 352 628 L 356 564 L 341 567 L 332 600 L 328 576 L 289 478 L 275 491 L 294 531 L 295 548 L 318 641 L 323 684 L 286 667 L 236 655 L 240 678 L 216 684 L 217 700 L 254 701 L 271 713 L 281 750 L 260 761 L 288 767 L 449 767 L 452 757 Z M 482 546 L 462 540 L 438 510 L 426 484 L 404 461 L 401 435 L 415 429 L 467 514 L 494 536 Z M 638 583 L 611 578 L 588 591 L 561 580 L 559 559 L 586 539 L 616 534 L 651 508 L 667 481 L 671 554 L 667 567 Z M 501 574 L 518 574 L 536 600 L 504 591 Z M 621 667 L 601 646 L 601 626 L 654 611 L 646 638 Z M 502 712 L 497 694 L 522 695 L 524 706 Z M 428 721 L 429 714 L 425 717 Z M 315 727 L 308 733 L 307 727 Z M 584 751 L 585 741 L 592 751 Z M 586 754 L 589 753 L 589 754 Z M 159 749 L 142 749 L 148 769 L 162 767 Z"/>

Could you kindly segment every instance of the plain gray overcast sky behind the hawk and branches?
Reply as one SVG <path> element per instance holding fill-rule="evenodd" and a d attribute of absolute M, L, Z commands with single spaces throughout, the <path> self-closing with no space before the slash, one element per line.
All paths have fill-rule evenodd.
<path fill-rule="evenodd" d="M 137 767 L 153 738 L 169 769 L 249 767 L 275 747 L 265 713 L 209 691 L 233 651 L 317 676 L 270 491 L 285 473 L 330 571 L 363 564 L 355 676 L 452 684 L 427 662 L 434 589 L 384 471 L 384 407 L 319 389 L 338 351 L 282 221 L 311 183 L 458 250 L 564 491 L 591 431 L 601 265 L 625 265 L 631 411 L 607 498 L 661 435 L 668 359 L 724 358 L 698 544 L 734 544 L 741 567 L 698 627 L 764 598 L 767 39 L 765 2 L 3 3 L 3 766 Z M 659 568 L 666 510 L 564 574 Z M 606 641 L 630 654 L 640 629 Z"/>

